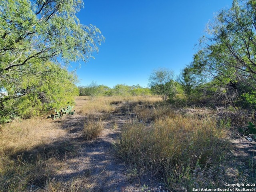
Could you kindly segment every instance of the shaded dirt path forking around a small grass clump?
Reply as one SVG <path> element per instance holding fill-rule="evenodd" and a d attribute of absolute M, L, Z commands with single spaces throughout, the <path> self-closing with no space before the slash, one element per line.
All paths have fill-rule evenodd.
<path fill-rule="evenodd" d="M 65 165 L 56 172 L 58 180 L 63 182 L 82 177 L 83 185 L 90 192 L 141 192 L 143 184 L 139 184 L 139 181 L 129 183 L 126 167 L 114 156 L 112 145 L 123 124 L 130 121 L 128 117 L 110 114 L 110 120 L 105 122 L 102 134 L 92 141 L 85 141 L 82 136 L 84 118 L 81 114 L 76 114 L 65 120 L 64 128 L 69 133 L 63 139 L 70 140 L 76 149 L 74 155 L 68 156 Z M 148 187 L 147 190 L 153 192 L 156 187 Z"/>

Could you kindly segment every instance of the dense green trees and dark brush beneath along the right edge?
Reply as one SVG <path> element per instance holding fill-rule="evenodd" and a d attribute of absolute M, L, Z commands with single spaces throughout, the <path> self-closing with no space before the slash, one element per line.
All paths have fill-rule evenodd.
<path fill-rule="evenodd" d="M 182 72 L 190 103 L 255 108 L 255 6 L 252 0 L 234 0 L 208 24 L 192 64 Z"/>

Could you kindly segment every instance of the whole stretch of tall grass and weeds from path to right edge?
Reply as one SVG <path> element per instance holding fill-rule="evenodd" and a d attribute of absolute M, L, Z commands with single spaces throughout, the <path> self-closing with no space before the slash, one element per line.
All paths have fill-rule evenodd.
<path fill-rule="evenodd" d="M 201 108 L 191 109 L 194 114 L 190 115 L 188 110 L 181 112 L 161 102 L 136 103 L 130 108 L 136 118 L 122 128 L 115 148 L 130 170 L 131 182 L 143 175 L 151 182 L 160 177 L 171 191 L 192 191 L 255 180 L 255 168 L 242 173 L 242 167 L 232 167 L 236 157 L 227 155 L 232 150 L 230 131 L 248 116 L 243 121 L 234 118 L 230 122 L 236 116 L 234 111 L 216 116 L 218 111 L 212 109 L 208 113 Z M 202 115 L 196 113 L 203 110 Z M 252 166 L 246 156 L 241 161 Z M 230 169 L 234 170 L 230 173 Z"/>

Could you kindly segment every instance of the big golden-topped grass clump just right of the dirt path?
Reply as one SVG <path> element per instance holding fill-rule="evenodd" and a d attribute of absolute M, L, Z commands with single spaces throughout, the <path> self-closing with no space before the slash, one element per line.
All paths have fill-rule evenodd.
<path fill-rule="evenodd" d="M 174 112 L 149 125 L 124 126 L 116 149 L 128 165 L 160 174 L 170 188 L 182 183 L 195 188 L 192 170 L 216 164 L 228 150 L 226 133 L 215 120 L 184 118 Z"/>

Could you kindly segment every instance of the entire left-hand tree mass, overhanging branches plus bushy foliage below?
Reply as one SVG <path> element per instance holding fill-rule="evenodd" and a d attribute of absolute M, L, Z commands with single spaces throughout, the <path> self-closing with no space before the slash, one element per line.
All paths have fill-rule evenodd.
<path fill-rule="evenodd" d="M 1 116 L 26 114 L 20 107 L 25 103 L 57 107 L 65 103 L 58 96 L 76 92 L 76 78 L 63 66 L 88 61 L 104 40 L 96 26 L 80 24 L 76 13 L 82 7 L 82 0 L 0 1 Z M 49 104 L 42 103 L 43 95 Z"/>

